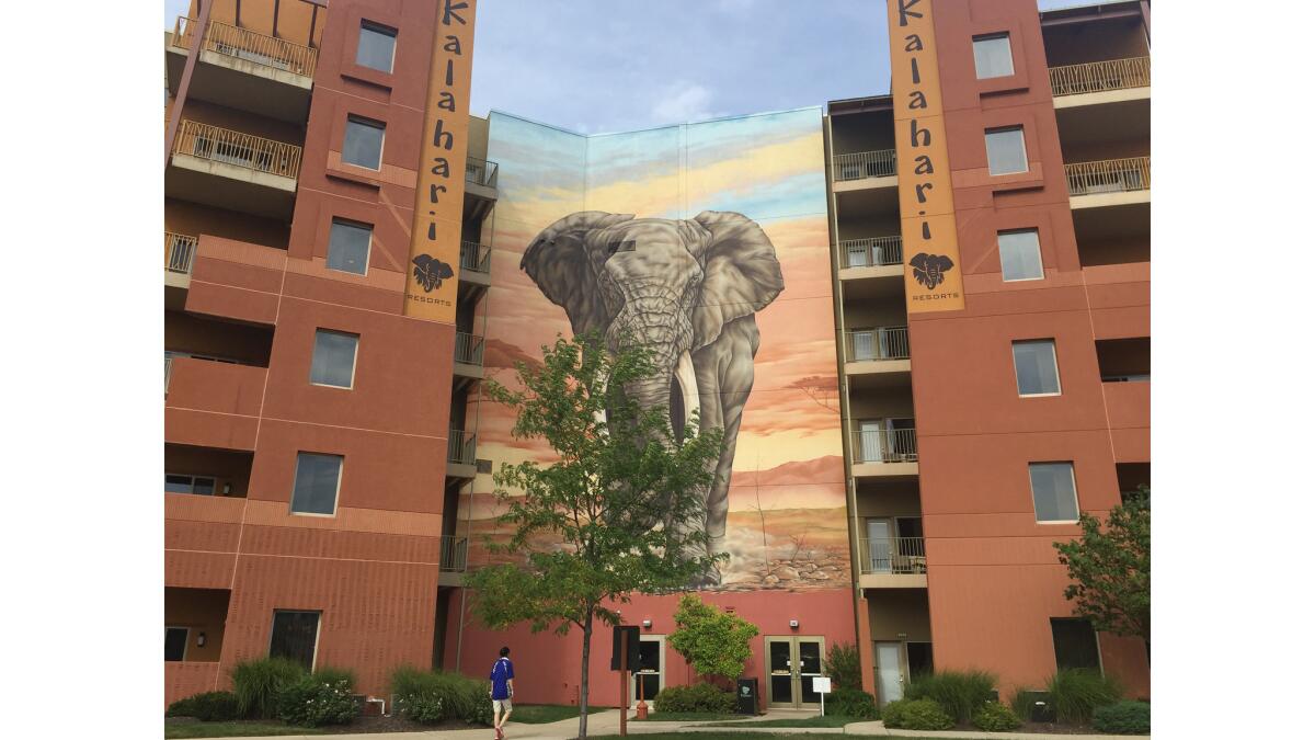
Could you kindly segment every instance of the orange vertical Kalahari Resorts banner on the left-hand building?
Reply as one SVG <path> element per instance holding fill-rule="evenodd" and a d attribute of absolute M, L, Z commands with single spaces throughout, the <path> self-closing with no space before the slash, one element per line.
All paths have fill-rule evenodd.
<path fill-rule="evenodd" d="M 438 0 L 405 315 L 456 321 L 476 0 Z"/>

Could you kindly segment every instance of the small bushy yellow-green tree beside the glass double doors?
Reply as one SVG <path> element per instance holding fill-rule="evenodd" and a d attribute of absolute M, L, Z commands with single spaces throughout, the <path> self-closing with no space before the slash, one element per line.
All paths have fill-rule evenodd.
<path fill-rule="evenodd" d="M 694 594 L 685 594 L 676 607 L 671 647 L 694 666 L 696 673 L 734 681 L 753 654 L 748 641 L 756 635 L 753 624 L 705 604 Z"/>

